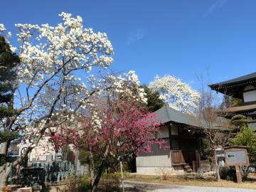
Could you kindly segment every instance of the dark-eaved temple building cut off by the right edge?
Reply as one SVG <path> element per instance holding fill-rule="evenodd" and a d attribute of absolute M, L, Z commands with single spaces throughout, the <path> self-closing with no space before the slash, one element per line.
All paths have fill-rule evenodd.
<path fill-rule="evenodd" d="M 216 92 L 242 100 L 238 105 L 223 109 L 223 112 L 226 113 L 226 117 L 233 117 L 235 114 L 245 115 L 249 126 L 256 132 L 256 73 L 218 82 L 209 87 Z"/>

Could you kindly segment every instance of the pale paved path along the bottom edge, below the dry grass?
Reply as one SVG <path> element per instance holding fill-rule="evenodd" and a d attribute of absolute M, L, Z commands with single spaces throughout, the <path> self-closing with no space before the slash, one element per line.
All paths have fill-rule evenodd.
<path fill-rule="evenodd" d="M 252 189 L 243 188 L 215 188 L 200 186 L 173 186 L 160 185 L 158 183 L 144 183 L 136 181 L 125 181 L 125 191 L 129 192 L 256 192 Z"/>

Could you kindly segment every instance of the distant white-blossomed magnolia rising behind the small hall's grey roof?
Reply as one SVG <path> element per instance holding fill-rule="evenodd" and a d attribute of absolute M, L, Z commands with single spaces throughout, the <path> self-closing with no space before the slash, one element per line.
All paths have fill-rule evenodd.
<path fill-rule="evenodd" d="M 170 107 L 181 112 L 195 112 L 198 108 L 200 95 L 188 84 L 171 75 L 158 75 L 149 83 L 149 88 L 158 91 L 160 98 Z"/>

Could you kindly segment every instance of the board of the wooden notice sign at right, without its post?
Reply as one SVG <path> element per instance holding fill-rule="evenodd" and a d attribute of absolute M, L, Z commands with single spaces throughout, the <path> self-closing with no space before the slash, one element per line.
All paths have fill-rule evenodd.
<path fill-rule="evenodd" d="M 249 166 L 247 150 L 235 147 L 225 149 L 225 164 L 227 166 Z"/>

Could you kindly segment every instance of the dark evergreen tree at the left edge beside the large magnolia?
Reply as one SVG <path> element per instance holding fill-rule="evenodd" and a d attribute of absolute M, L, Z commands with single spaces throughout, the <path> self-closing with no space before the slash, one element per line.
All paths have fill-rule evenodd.
<path fill-rule="evenodd" d="M 0 118 L 9 117 L 15 113 L 12 105 L 11 93 L 15 90 L 16 65 L 18 55 L 11 51 L 6 39 L 0 35 Z"/>

